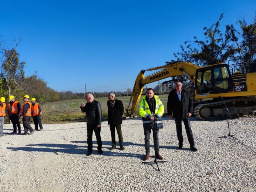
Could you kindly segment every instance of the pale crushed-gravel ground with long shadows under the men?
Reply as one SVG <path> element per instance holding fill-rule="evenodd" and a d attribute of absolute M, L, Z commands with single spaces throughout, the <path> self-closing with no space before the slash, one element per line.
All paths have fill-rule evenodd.
<path fill-rule="evenodd" d="M 191 118 L 198 151 L 192 152 L 183 127 L 183 150 L 177 150 L 174 120 L 159 131 L 162 162 L 145 162 L 141 119 L 124 120 L 124 147 L 110 151 L 111 136 L 102 122 L 103 154 L 86 156 L 86 124 L 44 124 L 33 135 L 0 137 L 0 191 L 256 191 L 256 118 L 200 121 Z M 116 133 L 116 138 L 117 133 Z M 154 146 L 151 135 L 151 156 Z M 118 145 L 118 143 L 117 143 Z M 160 171 L 157 169 L 159 166 Z"/>

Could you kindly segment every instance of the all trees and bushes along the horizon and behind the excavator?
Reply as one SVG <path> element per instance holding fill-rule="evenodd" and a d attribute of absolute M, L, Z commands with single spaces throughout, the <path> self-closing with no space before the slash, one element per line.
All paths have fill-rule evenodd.
<path fill-rule="evenodd" d="M 236 64 L 239 70 L 247 72 L 249 65 L 256 59 L 256 16 L 249 24 L 245 19 L 238 19 L 234 24 L 221 26 L 223 17 L 224 14 L 221 14 L 216 23 L 203 29 L 204 39 L 200 40 L 194 36 L 193 40 L 185 41 L 180 45 L 181 51 L 173 53 L 175 60 L 172 61 L 182 60 L 198 66 L 230 62 Z M 222 32 L 220 28 L 224 28 L 225 31 Z M 26 62 L 20 61 L 20 54 L 17 51 L 21 39 L 15 40 L 15 45 L 11 49 L 4 47 L 1 42 L 2 39 L 0 39 L 0 96 L 9 99 L 10 95 L 14 95 L 19 100 L 28 94 L 40 103 L 84 98 L 86 93 L 53 90 L 37 75 L 37 71 L 31 76 L 25 76 Z M 176 81 L 181 81 L 184 87 L 194 93 L 194 84 L 188 81 L 186 76 L 175 76 L 169 81 L 164 81 L 161 87 L 157 85 L 154 90 L 158 94 L 168 93 L 174 88 Z M 164 91 L 160 89 L 162 86 L 165 86 Z M 115 93 L 118 97 L 130 96 L 131 90 Z M 93 92 L 93 94 L 95 97 L 108 96 L 108 92 Z"/>

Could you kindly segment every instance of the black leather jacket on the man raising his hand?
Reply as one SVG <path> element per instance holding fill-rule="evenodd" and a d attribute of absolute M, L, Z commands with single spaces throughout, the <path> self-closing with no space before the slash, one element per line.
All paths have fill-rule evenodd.
<path fill-rule="evenodd" d="M 80 107 L 81 111 L 85 112 L 86 124 L 101 125 L 102 111 L 100 102 L 93 100 L 91 103 L 86 103 L 84 107 Z"/>

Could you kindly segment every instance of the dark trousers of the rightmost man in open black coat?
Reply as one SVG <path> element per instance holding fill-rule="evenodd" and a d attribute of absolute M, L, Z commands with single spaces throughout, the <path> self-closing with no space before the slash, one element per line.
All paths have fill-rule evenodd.
<path fill-rule="evenodd" d="M 193 137 L 193 133 L 192 133 L 192 130 L 191 130 L 191 127 L 190 127 L 189 118 L 175 117 L 175 124 L 176 124 L 177 137 L 178 137 L 178 140 L 179 140 L 179 147 L 182 147 L 182 145 L 183 145 L 181 120 L 183 120 L 183 123 L 185 125 L 185 129 L 186 129 L 186 133 L 187 133 L 187 136 L 188 136 L 188 142 L 189 142 L 190 148 L 196 147 L 194 137 Z"/>

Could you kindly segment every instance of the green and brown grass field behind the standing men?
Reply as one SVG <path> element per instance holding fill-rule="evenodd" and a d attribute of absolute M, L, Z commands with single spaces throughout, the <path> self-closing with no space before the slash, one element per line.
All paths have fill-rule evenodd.
<path fill-rule="evenodd" d="M 119 100 L 122 100 L 124 104 L 124 113 L 125 109 L 128 108 L 130 103 L 130 97 L 116 97 Z M 142 97 L 141 97 L 142 98 Z M 159 95 L 160 100 L 164 104 L 164 113 L 167 113 L 167 99 L 168 95 Z M 108 115 L 107 107 L 107 97 L 94 98 L 100 102 L 102 108 L 103 119 L 105 120 Z M 57 101 L 52 103 L 45 103 L 42 105 L 43 115 L 42 122 L 43 124 L 55 124 L 55 123 L 67 123 L 67 122 L 81 122 L 84 121 L 85 114 L 81 112 L 80 105 L 81 103 L 86 103 L 85 99 L 74 99 L 74 100 L 64 100 Z M 130 104 L 131 108 L 132 103 Z M 138 111 L 138 110 L 137 110 Z M 138 115 L 138 114 L 136 114 Z M 124 114 L 125 116 L 125 114 Z"/>

